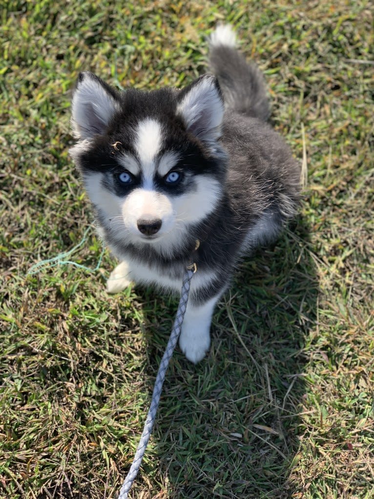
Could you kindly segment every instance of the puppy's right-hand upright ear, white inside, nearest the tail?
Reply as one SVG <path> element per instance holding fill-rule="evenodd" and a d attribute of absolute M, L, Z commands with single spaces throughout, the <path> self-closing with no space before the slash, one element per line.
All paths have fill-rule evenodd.
<path fill-rule="evenodd" d="M 214 142 L 221 135 L 223 110 L 217 79 L 211 75 L 200 76 L 178 96 L 177 115 L 204 142 Z"/>

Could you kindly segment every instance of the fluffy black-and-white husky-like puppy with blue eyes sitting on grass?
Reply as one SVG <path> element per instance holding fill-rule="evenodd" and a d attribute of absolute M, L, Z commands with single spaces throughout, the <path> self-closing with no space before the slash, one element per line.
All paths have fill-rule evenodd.
<path fill-rule="evenodd" d="M 121 262 L 107 290 L 135 281 L 178 293 L 195 262 L 180 337 L 192 362 L 209 349 L 214 306 L 240 257 L 274 240 L 300 192 L 300 166 L 267 123 L 262 74 L 229 25 L 209 38 L 209 65 L 214 76 L 182 90 L 119 92 L 82 72 L 72 99 L 70 154 Z"/>

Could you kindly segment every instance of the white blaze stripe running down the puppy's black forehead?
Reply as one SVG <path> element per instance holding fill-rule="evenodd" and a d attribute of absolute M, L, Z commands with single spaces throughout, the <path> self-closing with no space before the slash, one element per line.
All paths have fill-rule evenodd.
<path fill-rule="evenodd" d="M 162 145 L 161 123 L 147 118 L 138 125 L 135 140 L 135 150 L 146 178 L 153 178 L 155 173 L 155 158 Z"/>

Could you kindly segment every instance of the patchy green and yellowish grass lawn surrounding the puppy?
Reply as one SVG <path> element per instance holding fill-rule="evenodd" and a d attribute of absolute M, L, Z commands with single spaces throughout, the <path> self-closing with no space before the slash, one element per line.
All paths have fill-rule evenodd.
<path fill-rule="evenodd" d="M 115 498 L 176 301 L 104 291 L 115 264 L 27 275 L 93 220 L 68 158 L 71 88 L 183 86 L 233 23 L 308 172 L 300 215 L 245 259 L 197 366 L 176 351 L 129 497 L 369 499 L 373 8 L 347 2 L 9 0 L 0 11 L 0 497 Z M 306 177 L 304 175 L 304 177 Z M 92 229 L 74 253 L 94 268 Z"/>

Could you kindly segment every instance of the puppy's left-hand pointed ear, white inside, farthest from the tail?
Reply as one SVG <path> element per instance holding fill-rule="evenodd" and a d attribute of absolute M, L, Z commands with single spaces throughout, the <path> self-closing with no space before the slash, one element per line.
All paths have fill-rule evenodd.
<path fill-rule="evenodd" d="M 89 71 L 79 73 L 73 94 L 71 126 L 78 139 L 91 139 L 107 129 L 120 109 L 117 92 Z"/>

